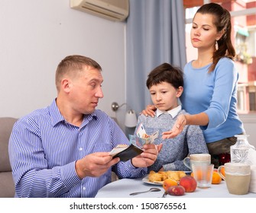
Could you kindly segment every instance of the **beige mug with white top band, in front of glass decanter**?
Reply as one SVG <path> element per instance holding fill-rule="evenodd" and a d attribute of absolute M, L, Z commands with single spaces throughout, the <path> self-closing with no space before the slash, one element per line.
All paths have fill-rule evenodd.
<path fill-rule="evenodd" d="M 222 175 L 222 167 L 225 176 Z M 245 195 L 249 191 L 251 181 L 251 167 L 248 164 L 225 163 L 218 167 L 218 173 L 225 180 L 228 192 L 234 195 Z"/>

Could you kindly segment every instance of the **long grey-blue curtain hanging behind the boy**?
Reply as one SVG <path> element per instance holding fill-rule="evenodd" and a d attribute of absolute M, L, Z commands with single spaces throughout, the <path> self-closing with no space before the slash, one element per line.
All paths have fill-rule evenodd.
<path fill-rule="evenodd" d="M 151 103 L 148 73 L 164 62 L 182 69 L 186 64 L 183 1 L 130 0 L 126 30 L 126 100 L 140 113 Z"/>

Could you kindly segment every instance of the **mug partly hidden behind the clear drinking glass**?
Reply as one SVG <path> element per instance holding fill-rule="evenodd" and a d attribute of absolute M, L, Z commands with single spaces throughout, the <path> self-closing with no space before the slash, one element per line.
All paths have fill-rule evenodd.
<path fill-rule="evenodd" d="M 190 170 L 192 170 L 192 164 L 209 165 L 211 164 L 211 155 L 206 153 L 190 154 L 190 156 L 184 158 L 183 164 Z"/>

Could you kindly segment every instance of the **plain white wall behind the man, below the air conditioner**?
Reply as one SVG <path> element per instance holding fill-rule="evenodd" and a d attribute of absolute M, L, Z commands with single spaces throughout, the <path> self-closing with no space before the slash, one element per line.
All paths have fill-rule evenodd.
<path fill-rule="evenodd" d="M 115 116 L 111 103 L 125 102 L 124 23 L 73 10 L 70 0 L 1 0 L 0 26 L 0 116 L 48 106 L 57 65 L 73 54 L 102 65 L 99 109 Z"/>

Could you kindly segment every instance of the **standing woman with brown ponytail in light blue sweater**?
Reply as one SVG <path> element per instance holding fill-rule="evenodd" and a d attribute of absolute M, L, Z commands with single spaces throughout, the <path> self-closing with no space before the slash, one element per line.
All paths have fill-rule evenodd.
<path fill-rule="evenodd" d="M 185 125 L 199 125 L 215 167 L 230 161 L 235 135 L 245 132 L 236 111 L 238 72 L 231 32 L 231 16 L 222 6 L 209 3 L 196 11 L 190 39 L 198 58 L 185 65 L 180 97 L 190 114 L 180 115 L 172 129 L 163 133 L 163 138 L 173 138 Z M 147 106 L 143 113 L 153 116 L 154 110 Z"/>

